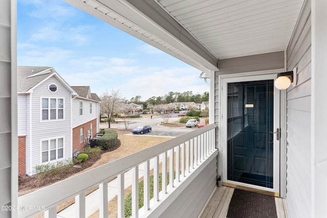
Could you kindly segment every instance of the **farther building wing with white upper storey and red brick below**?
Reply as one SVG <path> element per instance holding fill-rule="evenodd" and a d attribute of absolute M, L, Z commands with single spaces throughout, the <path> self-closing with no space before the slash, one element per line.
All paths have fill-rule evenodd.
<path fill-rule="evenodd" d="M 101 102 L 96 93 L 91 93 L 89 86 L 72 86 L 78 95 L 72 96 L 73 152 L 83 149 L 85 143 L 100 129 Z"/>

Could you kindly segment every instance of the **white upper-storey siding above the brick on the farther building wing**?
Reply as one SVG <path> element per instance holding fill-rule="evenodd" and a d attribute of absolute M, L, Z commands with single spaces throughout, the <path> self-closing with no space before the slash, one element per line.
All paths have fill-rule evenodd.
<path fill-rule="evenodd" d="M 83 115 L 80 116 L 80 101 L 83 101 Z M 90 114 L 90 102 L 92 103 L 92 113 Z M 86 99 L 73 99 L 73 110 L 72 110 L 72 127 L 78 127 L 82 124 L 89 122 L 90 120 L 99 118 L 97 113 L 97 106 L 99 103 L 88 101 Z M 98 130 L 97 130 L 98 131 Z"/>

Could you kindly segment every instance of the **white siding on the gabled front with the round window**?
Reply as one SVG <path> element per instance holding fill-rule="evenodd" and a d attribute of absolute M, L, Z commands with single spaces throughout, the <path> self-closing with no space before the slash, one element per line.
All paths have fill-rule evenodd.
<path fill-rule="evenodd" d="M 58 91 L 50 92 L 48 86 L 55 83 Z M 55 77 L 49 78 L 33 90 L 31 94 L 31 157 L 28 159 L 30 165 L 27 174 L 35 173 L 35 166 L 41 164 L 40 159 L 40 140 L 46 138 L 64 137 L 64 158 L 72 157 L 71 151 L 71 93 Z M 41 98 L 62 98 L 64 99 L 64 120 L 40 121 Z"/>

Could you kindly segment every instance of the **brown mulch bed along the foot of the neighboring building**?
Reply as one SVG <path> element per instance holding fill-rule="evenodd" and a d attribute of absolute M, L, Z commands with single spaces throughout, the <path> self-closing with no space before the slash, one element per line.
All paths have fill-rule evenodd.
<path fill-rule="evenodd" d="M 111 148 L 109 150 L 106 150 L 106 151 L 102 151 L 101 154 L 116 150 L 120 146 L 121 146 L 121 142 L 118 139 L 117 143 L 115 144 L 115 146 L 113 148 Z M 42 179 L 39 179 L 38 175 L 33 175 L 31 177 L 22 176 L 21 183 L 20 183 L 20 185 L 18 185 L 18 195 L 19 196 L 26 195 L 29 192 L 35 191 L 35 190 L 40 189 L 42 187 L 45 187 L 45 186 L 51 185 L 53 183 L 56 183 L 58 181 L 64 180 L 64 179 L 66 179 L 68 177 L 74 176 L 74 174 L 77 174 L 77 173 L 83 171 L 84 169 L 92 166 L 100 158 L 101 158 L 101 155 L 99 155 L 96 158 L 88 158 L 86 162 L 76 163 L 75 164 L 75 165 L 81 166 L 79 168 L 71 167 L 66 172 L 53 174 L 51 176 L 45 176 Z"/>

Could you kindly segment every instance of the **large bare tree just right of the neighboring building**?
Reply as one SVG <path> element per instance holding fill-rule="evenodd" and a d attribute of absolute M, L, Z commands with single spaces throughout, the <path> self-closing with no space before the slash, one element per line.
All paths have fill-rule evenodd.
<path fill-rule="evenodd" d="M 101 94 L 100 113 L 108 117 L 108 128 L 110 128 L 110 120 L 116 113 L 119 112 L 121 102 L 121 93 L 119 90 L 111 88 Z"/>

